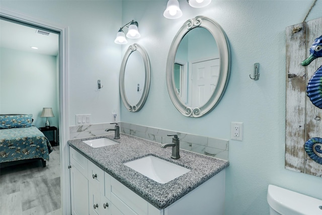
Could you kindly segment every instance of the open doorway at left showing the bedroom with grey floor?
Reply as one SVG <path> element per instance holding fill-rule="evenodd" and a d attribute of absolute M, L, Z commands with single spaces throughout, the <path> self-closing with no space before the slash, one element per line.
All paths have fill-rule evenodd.
<path fill-rule="evenodd" d="M 42 130 L 45 117 L 40 117 L 41 111 L 50 107 L 54 117 L 49 119 L 49 128 L 55 128 L 57 134 L 60 33 L 3 17 L 0 19 L 0 32 L 0 113 L 32 114 L 32 124 Z M 49 140 L 57 136 L 52 136 L 52 132 L 43 133 Z M 12 208 L 17 214 L 61 211 L 57 137 L 55 143 L 44 168 L 41 162 L 35 161 L 0 170 L 4 203 L 0 213 L 13 212 Z M 14 202 L 11 201 L 13 198 Z"/>

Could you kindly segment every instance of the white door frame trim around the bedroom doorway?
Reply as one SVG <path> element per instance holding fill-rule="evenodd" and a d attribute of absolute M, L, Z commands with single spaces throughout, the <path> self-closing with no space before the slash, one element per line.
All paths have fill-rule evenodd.
<path fill-rule="evenodd" d="M 59 32 L 59 149 L 61 212 L 70 214 L 68 128 L 68 27 L 58 26 L 26 14 L 0 8 L 0 16 Z"/>

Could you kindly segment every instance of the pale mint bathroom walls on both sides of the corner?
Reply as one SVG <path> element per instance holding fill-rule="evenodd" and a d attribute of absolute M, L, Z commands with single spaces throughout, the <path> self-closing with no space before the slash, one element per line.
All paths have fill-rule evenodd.
<path fill-rule="evenodd" d="M 322 179 L 284 169 L 285 28 L 301 23 L 312 1 L 212 1 L 204 9 L 180 1 L 183 17 L 163 17 L 167 1 L 1 1 L 0 6 L 68 26 L 69 125 L 74 114 L 92 113 L 93 123 L 111 121 L 121 104 L 121 121 L 230 139 L 230 122 L 244 122 L 244 141 L 229 140 L 226 214 L 269 214 L 268 184 L 322 199 Z M 317 1 L 307 20 L 321 16 Z M 193 119 L 173 106 L 166 84 L 169 48 L 187 20 L 204 15 L 218 22 L 231 48 L 231 76 L 224 97 L 208 115 Z M 114 44 L 118 29 L 134 19 L 141 38 Z M 118 75 L 128 45 L 142 45 L 151 63 L 144 107 L 130 113 L 119 101 Z M 261 78 L 253 81 L 254 63 Z M 98 91 L 97 80 L 104 88 Z M 118 108 L 116 108 L 118 110 Z M 119 119 L 117 119 L 119 120 Z M 202 212 L 200 213 L 202 214 Z"/>

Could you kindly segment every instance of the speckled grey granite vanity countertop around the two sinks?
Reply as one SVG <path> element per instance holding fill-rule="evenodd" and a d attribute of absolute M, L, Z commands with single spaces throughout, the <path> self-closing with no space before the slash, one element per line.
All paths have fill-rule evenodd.
<path fill-rule="evenodd" d="M 168 207 L 229 166 L 227 161 L 184 150 L 180 150 L 181 158 L 174 160 L 171 158 L 172 147 L 163 149 L 156 142 L 123 133 L 120 136 L 120 139 L 114 139 L 114 134 L 73 139 L 68 140 L 68 144 L 136 194 L 160 209 Z M 119 142 L 119 144 L 92 148 L 83 142 L 83 140 L 101 137 L 107 137 Z M 123 164 L 147 155 L 154 155 L 191 169 L 191 171 L 166 184 L 160 184 Z"/>

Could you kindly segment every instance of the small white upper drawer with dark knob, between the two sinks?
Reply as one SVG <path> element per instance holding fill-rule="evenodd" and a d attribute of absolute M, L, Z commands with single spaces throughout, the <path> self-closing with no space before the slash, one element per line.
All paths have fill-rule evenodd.
<path fill-rule="evenodd" d="M 88 161 L 88 164 L 89 183 L 99 189 L 100 193 L 105 193 L 104 171 L 91 161 Z"/>

